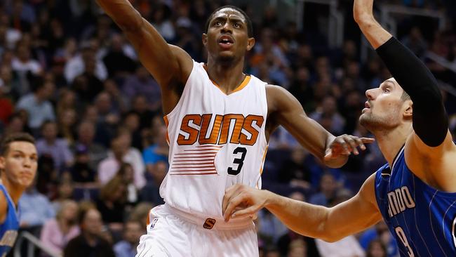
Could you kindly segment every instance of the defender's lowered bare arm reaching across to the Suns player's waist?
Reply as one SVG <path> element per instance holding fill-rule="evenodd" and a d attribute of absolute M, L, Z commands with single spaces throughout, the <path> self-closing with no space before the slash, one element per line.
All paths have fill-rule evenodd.
<path fill-rule="evenodd" d="M 223 198 L 225 220 L 254 216 L 265 207 L 300 235 L 335 242 L 369 228 L 382 219 L 375 202 L 375 173 L 358 194 L 332 208 L 281 197 L 246 185 L 229 187 Z"/>

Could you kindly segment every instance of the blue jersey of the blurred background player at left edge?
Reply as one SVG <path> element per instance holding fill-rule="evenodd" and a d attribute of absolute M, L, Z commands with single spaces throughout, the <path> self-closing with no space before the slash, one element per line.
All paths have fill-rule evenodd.
<path fill-rule="evenodd" d="M 6 213 L 4 222 L 0 224 L 0 256 L 4 257 L 11 250 L 16 237 L 18 237 L 19 217 L 18 213 L 16 213 L 14 202 L 4 185 L 0 184 L 0 189 L 8 200 L 8 213 Z"/>

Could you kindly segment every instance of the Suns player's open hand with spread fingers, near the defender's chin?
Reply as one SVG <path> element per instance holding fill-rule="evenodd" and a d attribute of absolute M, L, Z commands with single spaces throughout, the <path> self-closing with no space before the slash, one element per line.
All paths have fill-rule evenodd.
<path fill-rule="evenodd" d="M 334 138 L 333 142 L 326 148 L 325 161 L 336 159 L 341 155 L 350 155 L 352 152 L 358 155 L 358 147 L 361 150 L 366 150 L 368 143 L 373 143 L 373 138 L 358 138 L 357 136 L 342 135 Z"/>

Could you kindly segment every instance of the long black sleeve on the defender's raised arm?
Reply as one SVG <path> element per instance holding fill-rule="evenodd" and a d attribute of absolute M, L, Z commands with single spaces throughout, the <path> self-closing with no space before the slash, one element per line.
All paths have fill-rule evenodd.
<path fill-rule="evenodd" d="M 413 129 L 417 136 L 431 147 L 441 145 L 448 131 L 448 117 L 431 71 L 394 37 L 376 51 L 413 101 Z"/>

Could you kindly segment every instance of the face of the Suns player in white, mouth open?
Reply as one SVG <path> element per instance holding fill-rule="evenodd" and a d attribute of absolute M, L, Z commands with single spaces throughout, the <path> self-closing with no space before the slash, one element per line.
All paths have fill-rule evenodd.
<path fill-rule="evenodd" d="M 203 44 L 215 60 L 229 62 L 250 51 L 255 39 L 248 37 L 246 18 L 232 8 L 223 8 L 213 15 Z"/>

